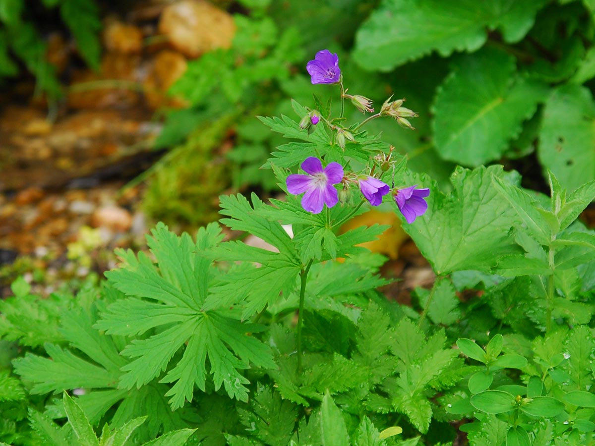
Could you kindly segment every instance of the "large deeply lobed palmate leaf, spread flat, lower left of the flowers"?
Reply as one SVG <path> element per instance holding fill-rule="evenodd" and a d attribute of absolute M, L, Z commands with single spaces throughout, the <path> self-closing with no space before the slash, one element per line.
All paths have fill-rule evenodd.
<path fill-rule="evenodd" d="M 246 335 L 258 331 L 257 326 L 238 321 L 234 317 L 237 312 L 231 312 L 227 303 L 211 300 L 210 309 L 205 309 L 209 304 L 211 279 L 211 261 L 205 250 L 221 240 L 220 228 L 217 224 L 202 228 L 196 244 L 188 235 L 178 237 L 170 233 L 163 224 L 157 225 L 152 233 L 149 247 L 157 265 L 147 256 L 139 254 L 136 259 L 129 253 L 121 269 L 107 274 L 115 288 L 136 300 L 130 307 L 133 311 L 127 311 L 126 302 L 116 302 L 95 325 L 107 334 L 134 335 L 149 329 L 161 330 L 146 339 L 133 340 L 124 348 L 122 354 L 132 360 L 121 369 L 126 373 L 120 379 L 120 387 L 140 388 L 148 384 L 183 349 L 177 365 L 161 379 L 175 383 L 167 392 L 173 409 L 192 400 L 194 385 L 205 391 L 207 357 L 215 389 L 224 385 L 230 397 L 247 400 L 248 380 L 238 369 L 248 368 L 250 363 L 270 368 L 275 365 L 270 349 Z M 237 293 L 233 293 L 231 299 L 224 300 L 233 301 L 236 297 Z"/>

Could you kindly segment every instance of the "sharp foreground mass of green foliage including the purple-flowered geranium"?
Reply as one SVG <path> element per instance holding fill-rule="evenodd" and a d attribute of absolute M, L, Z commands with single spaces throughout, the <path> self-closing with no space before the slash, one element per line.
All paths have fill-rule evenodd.
<path fill-rule="evenodd" d="M 576 219 L 595 183 L 566 191 L 550 174 L 546 197 L 500 166 L 457 168 L 446 194 L 365 130 L 391 117 L 409 131 L 403 100 L 374 112 L 328 50 L 307 70 L 339 105 L 259 118 L 289 139 L 265 165 L 286 194 L 220 197 L 219 223 L 271 250 L 223 241 L 217 223 L 194 238 L 158 224 L 150 253 L 118 251 L 76 299 L 14 282 L 0 441 L 593 444 L 595 234 Z M 436 274 L 411 306 L 378 291 L 385 259 L 361 246 L 387 226 L 344 229 L 376 208 Z"/>

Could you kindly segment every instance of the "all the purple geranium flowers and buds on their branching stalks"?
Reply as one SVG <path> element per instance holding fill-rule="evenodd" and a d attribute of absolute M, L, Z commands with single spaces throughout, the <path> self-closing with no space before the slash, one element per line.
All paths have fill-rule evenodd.
<path fill-rule="evenodd" d="M 311 76 L 312 84 L 339 84 L 341 87 L 342 115 L 345 99 L 350 99 L 356 108 L 364 113 L 374 112 L 371 107 L 372 100 L 361 95 L 348 95 L 347 90 L 343 88 L 339 56 L 336 53 L 332 54 L 327 49 L 319 51 L 315 58 L 308 62 L 306 70 Z M 413 128 L 406 118 L 415 117 L 417 114 L 403 107 L 403 101 L 404 99 L 392 100 L 391 96 L 383 103 L 380 112 L 368 117 L 355 130 L 359 130 L 362 125 L 372 119 L 383 116 L 393 117 L 402 127 Z M 343 116 L 340 118 L 343 118 Z M 302 118 L 300 128 L 308 129 L 309 133 L 311 133 L 314 125 L 321 121 L 327 124 L 331 131 L 335 132 L 335 142 L 342 149 L 345 149 L 346 140 L 356 142 L 353 131 L 332 123 L 327 118 L 322 117 L 317 110 L 310 111 Z M 381 171 L 387 171 L 392 163 L 390 156 L 384 156 L 384 153 L 376 156 L 374 161 L 380 161 Z M 308 212 L 320 213 L 324 209 L 324 205 L 332 208 L 340 201 L 343 201 L 339 199 L 339 193 L 335 188 L 337 184 L 343 186 L 343 197 L 349 195 L 350 186 L 357 184 L 362 195 L 372 206 L 380 205 L 383 197 L 390 193 L 399 207 L 399 211 L 409 224 L 413 223 L 418 216 L 423 215 L 428 209 L 424 199 L 430 195 L 430 189 L 418 189 L 417 185 L 395 189 L 394 178 L 393 187 L 390 187 L 380 178 L 374 176 L 375 165 L 369 173 L 346 172 L 345 168 L 337 162 L 330 162 L 327 167 L 323 168 L 320 158 L 310 156 L 302 163 L 301 167 L 307 175 L 289 175 L 286 180 L 287 191 L 295 195 L 303 193 L 302 207 Z"/>

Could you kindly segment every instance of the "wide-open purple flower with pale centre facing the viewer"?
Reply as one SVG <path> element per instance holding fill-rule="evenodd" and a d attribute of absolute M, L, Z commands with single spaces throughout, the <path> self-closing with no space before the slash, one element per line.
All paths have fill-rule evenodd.
<path fill-rule="evenodd" d="M 322 169 L 320 159 L 310 156 L 302 163 L 302 169 L 308 175 L 293 174 L 287 177 L 287 191 L 302 197 L 302 208 L 308 212 L 320 213 L 324 205 L 332 208 L 339 202 L 339 194 L 333 184 L 343 180 L 343 167 L 338 162 L 331 162 Z"/>

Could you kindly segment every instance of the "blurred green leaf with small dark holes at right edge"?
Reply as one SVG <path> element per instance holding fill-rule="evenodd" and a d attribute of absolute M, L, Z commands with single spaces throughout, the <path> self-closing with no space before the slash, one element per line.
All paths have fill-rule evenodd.
<path fill-rule="evenodd" d="M 595 180 L 595 103 L 588 89 L 567 85 L 546 102 L 538 158 L 568 190 Z"/>

